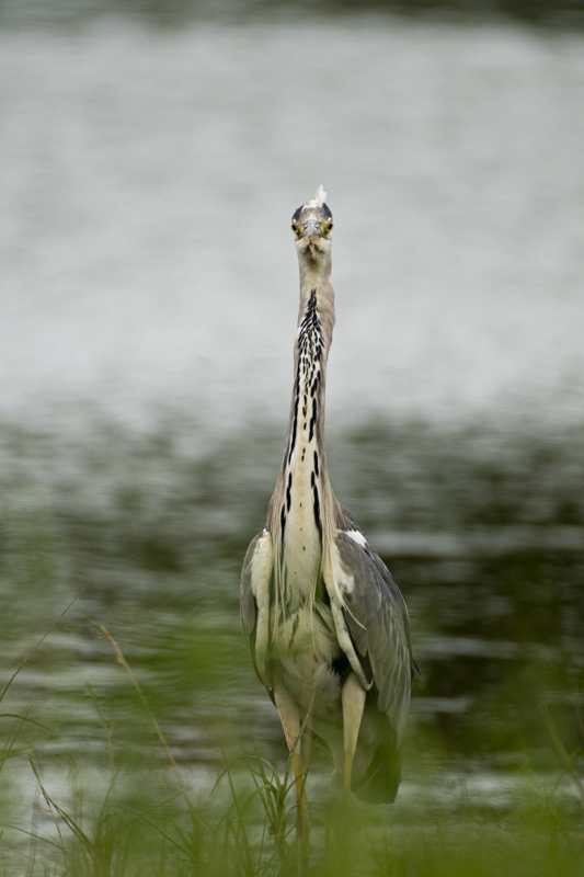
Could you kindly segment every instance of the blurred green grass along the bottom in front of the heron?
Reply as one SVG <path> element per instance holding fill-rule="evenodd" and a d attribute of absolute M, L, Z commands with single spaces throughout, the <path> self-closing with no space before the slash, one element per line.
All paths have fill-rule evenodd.
<path fill-rule="evenodd" d="M 295 838 L 296 804 L 289 762 L 271 763 L 257 748 L 225 756 L 203 782 L 180 765 L 142 686 L 110 633 L 85 616 L 112 649 L 139 706 L 141 737 L 151 731 L 150 768 L 125 762 L 116 750 L 116 704 L 85 685 L 79 696 L 93 709 L 103 742 L 98 763 L 47 755 L 50 730 L 25 715 L 3 713 L 8 726 L 0 765 L 18 764 L 36 786 L 27 822 L 10 818 L 2 784 L 4 835 L 0 862 L 7 875 L 71 877 L 571 877 L 584 866 L 584 778 L 580 751 L 568 752 L 549 710 L 542 721 L 559 768 L 540 776 L 524 770 L 500 790 L 469 790 L 453 781 L 453 764 L 437 759 L 415 773 L 415 794 L 402 788 L 393 807 L 343 802 L 309 778 L 313 828 L 308 854 Z M 8 680 L 5 699 L 19 672 Z M 582 722 L 580 711 L 579 721 Z M 32 725 L 34 732 L 23 733 Z M 96 731 L 96 728 L 94 728 Z M 66 742 L 66 741 L 65 741 Z M 160 759 L 162 755 L 162 760 Z M 412 753 L 408 762 L 413 764 Z M 58 766 L 58 774 L 55 773 Z M 9 771 L 10 773 L 10 771 Z M 208 774 L 211 774 L 210 777 Z M 67 775 L 64 784 L 62 776 Z M 58 781 L 55 777 L 58 776 Z M 53 778 L 51 778 L 53 777 Z M 313 781 L 313 782 L 312 782 Z M 442 784 L 442 789 L 440 789 Z M 10 785 L 10 784 L 9 784 Z M 55 787 L 54 787 L 55 786 Z M 412 784 L 410 783 L 412 787 Z M 424 791 L 427 789 L 427 797 Z M 440 793 L 442 798 L 440 798 Z M 0 872 L 1 873 L 1 872 Z"/>

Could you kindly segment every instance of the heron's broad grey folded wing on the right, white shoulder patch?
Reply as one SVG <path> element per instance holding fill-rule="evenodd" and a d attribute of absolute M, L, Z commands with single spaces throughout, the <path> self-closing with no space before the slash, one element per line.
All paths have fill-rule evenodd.
<path fill-rule="evenodd" d="M 359 531 L 339 533 L 343 614 L 356 651 L 368 662 L 378 707 L 396 730 L 400 745 L 410 709 L 410 692 L 417 670 L 410 642 L 408 610 L 383 561 Z"/>

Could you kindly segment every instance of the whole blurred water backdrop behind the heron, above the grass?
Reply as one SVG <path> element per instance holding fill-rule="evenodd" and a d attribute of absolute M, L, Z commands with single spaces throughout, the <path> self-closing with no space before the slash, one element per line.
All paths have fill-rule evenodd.
<path fill-rule="evenodd" d="M 1 717 L 4 824 L 42 821 L 31 752 L 62 801 L 71 764 L 95 791 L 110 752 L 136 794 L 165 763 L 83 613 L 194 788 L 277 754 L 239 573 L 319 183 L 331 481 L 424 677 L 398 800 L 560 787 L 559 741 L 576 773 L 584 745 L 582 0 L 2 0 L 0 29 L 5 682 L 56 622 L 2 704 L 31 719 Z"/>

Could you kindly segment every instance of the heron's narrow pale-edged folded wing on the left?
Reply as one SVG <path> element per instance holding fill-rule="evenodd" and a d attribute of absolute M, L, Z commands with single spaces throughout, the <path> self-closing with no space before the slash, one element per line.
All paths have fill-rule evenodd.
<path fill-rule="evenodd" d="M 241 571 L 240 608 L 245 642 L 260 680 L 271 688 L 267 675 L 270 583 L 273 571 L 272 536 L 264 529 L 250 543 Z"/>

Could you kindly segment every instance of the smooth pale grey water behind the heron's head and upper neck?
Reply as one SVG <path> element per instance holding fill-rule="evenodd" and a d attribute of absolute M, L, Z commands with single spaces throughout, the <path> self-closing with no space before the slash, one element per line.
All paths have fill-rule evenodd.
<path fill-rule="evenodd" d="M 289 217 L 322 182 L 331 428 L 581 421 L 580 35 L 105 20 L 0 46 L 7 415 L 279 418 Z"/>

